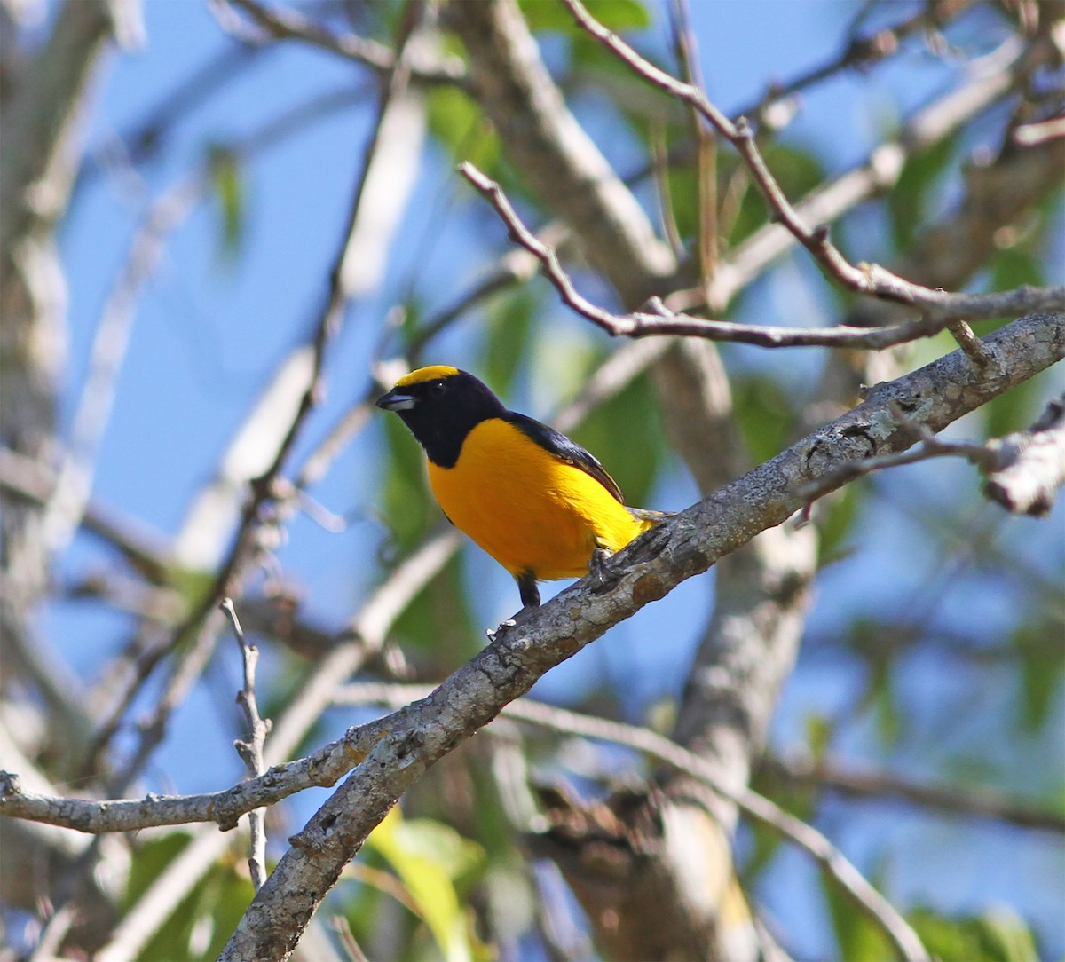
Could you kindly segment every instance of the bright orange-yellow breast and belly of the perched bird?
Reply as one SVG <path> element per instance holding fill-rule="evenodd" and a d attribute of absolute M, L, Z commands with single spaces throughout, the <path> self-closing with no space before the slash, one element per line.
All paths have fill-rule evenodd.
<path fill-rule="evenodd" d="M 649 526 L 595 478 L 492 419 L 466 436 L 454 468 L 429 462 L 440 507 L 511 574 L 580 577 L 596 548 L 620 551 Z"/>

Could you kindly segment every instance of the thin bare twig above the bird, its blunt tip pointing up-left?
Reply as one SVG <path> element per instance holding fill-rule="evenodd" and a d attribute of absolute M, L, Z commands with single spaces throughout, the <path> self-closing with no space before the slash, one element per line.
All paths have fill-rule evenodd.
<path fill-rule="evenodd" d="M 1001 294 L 952 294 L 949 296 L 958 298 L 956 310 L 961 313 L 930 310 L 928 315 L 919 321 L 888 327 L 852 327 L 840 324 L 833 327 L 793 328 L 733 324 L 730 321 L 707 321 L 686 314 L 674 314 L 657 298 L 651 301 L 655 313 L 636 311 L 630 314 L 615 314 L 597 307 L 577 292 L 554 249 L 540 241 L 521 222 L 503 189 L 495 181 L 481 174 L 469 161 L 459 166 L 459 172 L 488 198 L 507 225 L 510 235 L 540 261 L 544 274 L 558 290 L 562 300 L 611 336 L 624 335 L 638 338 L 650 335 L 686 335 L 712 341 L 738 341 L 760 347 L 861 347 L 880 350 L 916 338 L 938 333 L 953 325 L 962 314 L 968 317 L 999 317 L 1029 311 L 1065 310 L 1065 287 L 1026 286 Z"/>

